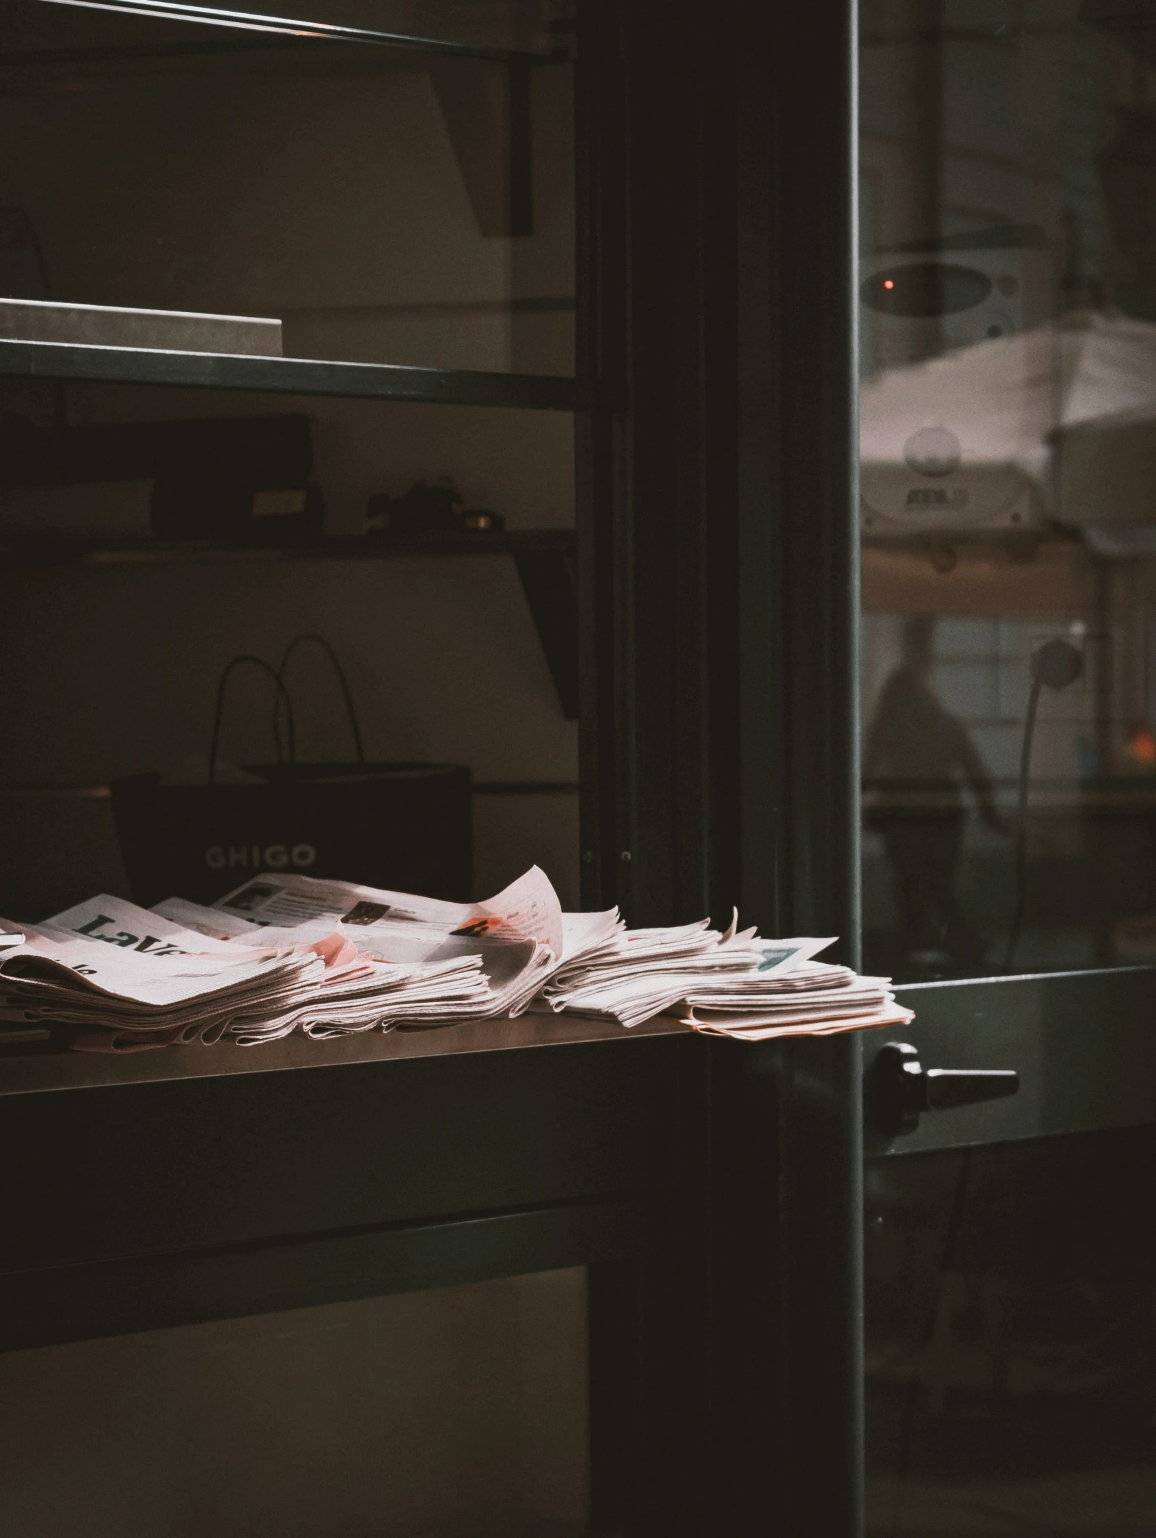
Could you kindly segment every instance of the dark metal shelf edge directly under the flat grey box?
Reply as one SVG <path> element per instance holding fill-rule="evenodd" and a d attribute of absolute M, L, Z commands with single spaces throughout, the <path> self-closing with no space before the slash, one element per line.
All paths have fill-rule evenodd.
<path fill-rule="evenodd" d="M 178 384 L 258 391 L 269 395 L 341 395 L 444 406 L 509 406 L 578 411 L 578 381 L 556 374 L 489 374 L 420 369 L 397 363 L 323 363 L 312 358 L 234 352 L 164 352 L 155 348 L 94 348 L 69 341 L 0 340 L 0 375 L 46 380 L 108 380 L 117 384 Z"/>

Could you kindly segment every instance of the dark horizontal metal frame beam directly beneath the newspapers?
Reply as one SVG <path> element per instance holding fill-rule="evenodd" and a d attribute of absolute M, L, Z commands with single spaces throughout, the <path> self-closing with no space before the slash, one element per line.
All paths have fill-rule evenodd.
<path fill-rule="evenodd" d="M 506 1044 L 121 1084 L 81 1060 L 51 1089 L 14 1064 L 0 1349 L 636 1258 L 698 1043 Z"/>

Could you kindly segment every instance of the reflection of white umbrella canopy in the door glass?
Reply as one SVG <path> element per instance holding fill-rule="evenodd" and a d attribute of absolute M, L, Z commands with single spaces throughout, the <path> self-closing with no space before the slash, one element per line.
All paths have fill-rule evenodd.
<path fill-rule="evenodd" d="M 1156 549 L 1156 325 L 1076 312 L 867 378 L 861 454 L 872 532 L 1051 518 Z"/>

